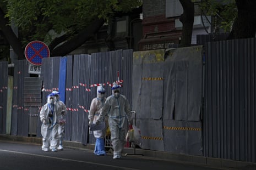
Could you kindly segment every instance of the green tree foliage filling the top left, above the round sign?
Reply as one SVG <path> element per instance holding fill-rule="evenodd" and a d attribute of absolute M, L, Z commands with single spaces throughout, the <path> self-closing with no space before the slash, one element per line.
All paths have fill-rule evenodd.
<path fill-rule="evenodd" d="M 74 40 L 75 36 L 81 37 L 81 32 L 86 29 L 91 28 L 90 33 L 95 33 L 96 29 L 115 13 L 128 12 L 140 5 L 140 0 L 6 0 L 0 2 L 0 8 L 6 12 L 5 16 L 9 19 L 9 24 L 12 21 L 18 27 L 19 40 L 23 48 L 32 40 L 40 40 L 47 42 L 51 50 L 60 43 Z M 88 33 L 84 38 L 90 36 L 93 35 Z M 83 44 L 84 41 L 79 42 Z"/>

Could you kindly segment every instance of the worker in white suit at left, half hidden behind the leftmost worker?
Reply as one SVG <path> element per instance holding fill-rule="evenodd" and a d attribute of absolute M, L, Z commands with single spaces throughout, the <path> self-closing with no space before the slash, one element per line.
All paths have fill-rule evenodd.
<path fill-rule="evenodd" d="M 65 123 L 66 123 L 66 111 L 67 111 L 67 107 L 66 105 L 63 103 L 63 101 L 59 100 L 59 92 L 57 91 L 52 91 L 51 93 L 55 99 L 56 99 L 56 103 L 57 103 L 57 112 L 59 115 L 58 118 L 58 123 L 59 123 L 59 127 L 58 127 L 58 150 L 63 150 L 63 139 L 64 139 L 64 130 L 65 130 Z"/>

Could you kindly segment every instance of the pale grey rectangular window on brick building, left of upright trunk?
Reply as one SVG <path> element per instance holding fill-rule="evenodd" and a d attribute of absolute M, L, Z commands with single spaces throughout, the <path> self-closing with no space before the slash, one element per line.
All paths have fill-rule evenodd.
<path fill-rule="evenodd" d="M 179 0 L 166 0 L 165 17 L 180 16 L 183 14 L 183 8 Z"/>

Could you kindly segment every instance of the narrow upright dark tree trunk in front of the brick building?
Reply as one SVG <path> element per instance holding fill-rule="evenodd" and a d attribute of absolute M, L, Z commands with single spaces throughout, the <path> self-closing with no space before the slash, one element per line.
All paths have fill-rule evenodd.
<path fill-rule="evenodd" d="M 183 7 L 183 14 L 179 18 L 182 22 L 182 36 L 179 47 L 188 47 L 191 45 L 192 31 L 194 25 L 194 3 L 190 0 L 179 0 Z"/>

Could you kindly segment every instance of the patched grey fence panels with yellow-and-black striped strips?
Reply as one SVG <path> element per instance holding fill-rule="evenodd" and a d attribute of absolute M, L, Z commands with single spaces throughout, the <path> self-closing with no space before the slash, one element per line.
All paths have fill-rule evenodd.
<path fill-rule="evenodd" d="M 202 46 L 134 52 L 133 102 L 141 148 L 203 155 Z"/>

